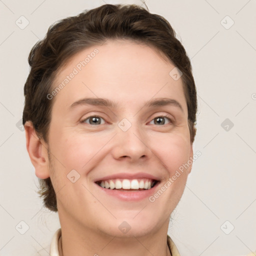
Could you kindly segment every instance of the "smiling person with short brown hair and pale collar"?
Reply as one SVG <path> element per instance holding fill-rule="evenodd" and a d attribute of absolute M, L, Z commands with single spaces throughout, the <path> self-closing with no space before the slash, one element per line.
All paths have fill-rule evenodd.
<path fill-rule="evenodd" d="M 168 21 L 105 4 L 50 26 L 29 64 L 27 151 L 61 226 L 50 255 L 179 255 L 167 230 L 192 167 L 197 99 Z"/>

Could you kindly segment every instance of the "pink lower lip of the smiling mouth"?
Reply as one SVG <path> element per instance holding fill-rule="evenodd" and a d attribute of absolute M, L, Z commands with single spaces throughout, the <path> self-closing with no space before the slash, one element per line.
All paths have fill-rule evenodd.
<path fill-rule="evenodd" d="M 150 195 L 152 195 L 156 188 L 159 185 L 159 181 L 157 184 L 155 184 L 153 187 L 150 189 L 145 189 L 145 190 L 138 190 L 138 191 L 123 191 L 123 190 L 118 190 L 118 189 L 109 189 L 109 188 L 103 188 L 97 184 L 95 184 L 102 192 L 104 192 L 107 195 L 114 196 L 120 200 L 123 201 L 139 201 L 144 198 L 148 198 Z"/>

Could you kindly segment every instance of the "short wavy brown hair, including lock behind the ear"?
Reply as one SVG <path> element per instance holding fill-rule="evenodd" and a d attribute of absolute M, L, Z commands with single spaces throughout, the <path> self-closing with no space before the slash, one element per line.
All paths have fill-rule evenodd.
<path fill-rule="evenodd" d="M 48 142 L 53 100 L 48 99 L 57 71 L 71 56 L 107 39 L 129 39 L 154 48 L 182 72 L 190 141 L 194 141 L 197 98 L 191 63 L 175 31 L 160 15 L 135 4 L 104 4 L 52 24 L 28 56 L 30 72 L 24 85 L 23 125 L 30 120 L 39 138 Z M 50 177 L 39 179 L 44 206 L 57 211 Z"/>

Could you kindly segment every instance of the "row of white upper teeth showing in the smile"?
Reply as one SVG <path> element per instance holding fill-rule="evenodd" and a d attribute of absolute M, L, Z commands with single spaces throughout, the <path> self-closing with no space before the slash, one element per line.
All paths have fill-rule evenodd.
<path fill-rule="evenodd" d="M 152 179 L 108 179 L 102 180 L 99 185 L 110 189 L 149 189 L 154 184 Z"/>

